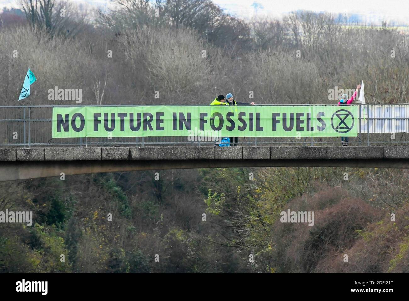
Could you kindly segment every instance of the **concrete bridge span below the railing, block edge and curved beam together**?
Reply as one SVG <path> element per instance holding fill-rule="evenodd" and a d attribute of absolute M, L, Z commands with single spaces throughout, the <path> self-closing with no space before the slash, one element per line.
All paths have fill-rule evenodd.
<path fill-rule="evenodd" d="M 215 167 L 409 168 L 409 146 L 0 148 L 0 181 Z"/>

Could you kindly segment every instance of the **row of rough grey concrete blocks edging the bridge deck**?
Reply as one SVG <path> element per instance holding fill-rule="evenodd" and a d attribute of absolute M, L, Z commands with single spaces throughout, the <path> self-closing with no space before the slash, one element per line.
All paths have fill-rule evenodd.
<path fill-rule="evenodd" d="M 0 148 L 0 161 L 409 159 L 409 146 Z"/>

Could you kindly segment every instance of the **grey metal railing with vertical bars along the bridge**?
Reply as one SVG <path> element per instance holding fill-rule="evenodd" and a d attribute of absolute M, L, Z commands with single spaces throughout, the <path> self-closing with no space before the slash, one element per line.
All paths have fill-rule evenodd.
<path fill-rule="evenodd" d="M 333 104 L 331 104 L 333 105 Z M 337 105 L 337 104 L 334 104 Z M 96 106 L 96 105 L 89 105 Z M 121 107 L 130 105 L 100 105 L 99 107 Z M 141 106 L 141 105 L 135 105 Z M 150 105 L 151 106 L 151 105 Z M 195 105 L 196 106 L 196 105 Z M 305 106 L 305 105 L 262 105 L 262 106 Z M 322 105 L 321 105 L 322 106 Z M 354 105 L 351 105 L 354 106 Z M 405 145 L 409 144 L 409 104 L 365 104 L 359 106 L 359 134 L 350 137 L 350 145 Z M 382 109 L 383 106 L 386 109 Z M 52 138 L 52 108 L 81 107 L 79 105 L 33 105 L 0 106 L 0 147 L 45 147 L 67 146 L 213 146 L 214 141 L 189 141 L 188 137 L 112 137 L 106 138 Z M 342 106 L 340 108 L 345 108 Z M 366 113 L 362 113 L 365 112 Z M 364 116 L 363 116 L 364 115 Z M 366 126 L 365 126 L 366 124 Z M 368 126 L 369 124 L 369 126 Z M 372 124 L 372 126 L 371 126 Z M 376 133 L 375 127 L 399 129 L 399 132 Z M 386 127 L 385 127 L 386 125 Z M 406 132 L 407 131 L 407 132 Z M 394 137 L 393 137 L 394 133 Z M 342 134 L 339 134 L 342 136 Z M 393 139 L 394 138 L 394 139 Z M 339 137 L 239 137 L 239 145 L 340 145 Z"/>

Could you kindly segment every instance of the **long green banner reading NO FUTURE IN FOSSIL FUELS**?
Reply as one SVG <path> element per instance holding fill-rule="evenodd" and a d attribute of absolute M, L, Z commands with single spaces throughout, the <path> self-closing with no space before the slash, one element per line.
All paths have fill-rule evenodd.
<path fill-rule="evenodd" d="M 357 136 L 357 106 L 54 107 L 53 138 Z"/>

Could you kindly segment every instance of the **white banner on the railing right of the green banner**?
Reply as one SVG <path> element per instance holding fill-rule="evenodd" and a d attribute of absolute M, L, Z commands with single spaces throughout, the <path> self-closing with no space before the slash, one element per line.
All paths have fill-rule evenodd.
<path fill-rule="evenodd" d="M 409 104 L 362 105 L 361 133 L 407 133 L 409 132 Z"/>

